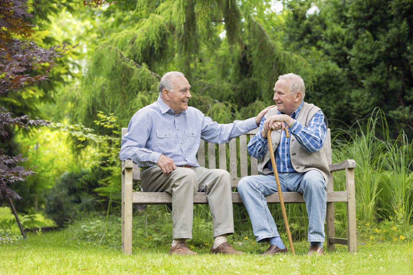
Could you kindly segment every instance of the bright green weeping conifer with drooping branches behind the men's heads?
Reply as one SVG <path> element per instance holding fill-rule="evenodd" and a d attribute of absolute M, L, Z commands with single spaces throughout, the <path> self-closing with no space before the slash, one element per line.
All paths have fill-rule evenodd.
<path fill-rule="evenodd" d="M 272 104 L 282 73 L 299 73 L 310 87 L 314 81 L 311 66 L 281 46 L 282 20 L 273 19 L 282 15 L 262 1 L 139 0 L 129 12 L 139 20 L 102 43 L 84 70 L 72 114 L 88 127 L 97 111 L 114 113 L 126 126 L 156 101 L 167 71 L 182 71 L 192 85 L 190 105 L 221 123 Z"/>

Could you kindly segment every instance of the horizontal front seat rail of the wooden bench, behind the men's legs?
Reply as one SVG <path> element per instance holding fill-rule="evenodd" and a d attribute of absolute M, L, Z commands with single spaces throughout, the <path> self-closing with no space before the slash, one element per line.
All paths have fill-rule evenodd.
<path fill-rule="evenodd" d="M 282 197 L 286 203 L 303 203 L 303 195 L 299 192 L 282 192 Z M 265 197 L 269 203 L 280 203 L 277 192 Z M 242 203 L 237 192 L 232 193 L 234 204 Z M 166 192 L 133 192 L 133 204 L 171 204 L 172 196 Z M 327 202 L 347 202 L 347 192 L 327 192 Z M 206 204 L 207 193 L 197 192 L 194 197 L 194 204 Z"/>

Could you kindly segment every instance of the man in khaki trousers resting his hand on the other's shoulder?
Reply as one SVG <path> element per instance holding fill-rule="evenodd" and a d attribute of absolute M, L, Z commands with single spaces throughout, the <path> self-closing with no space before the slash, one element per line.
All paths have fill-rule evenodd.
<path fill-rule="evenodd" d="M 121 160 L 132 159 L 142 167 L 145 192 L 172 194 L 172 237 L 169 254 L 195 255 L 186 244 L 192 238 L 193 197 L 206 192 L 214 222 L 213 254 L 242 254 L 227 242 L 233 234 L 233 205 L 230 174 L 222 169 L 200 167 L 196 159 L 199 140 L 224 143 L 255 129 L 268 107 L 255 118 L 218 124 L 201 111 L 188 107 L 191 98 L 183 73 L 162 76 L 157 102 L 133 115 L 128 133 L 122 137 Z"/>

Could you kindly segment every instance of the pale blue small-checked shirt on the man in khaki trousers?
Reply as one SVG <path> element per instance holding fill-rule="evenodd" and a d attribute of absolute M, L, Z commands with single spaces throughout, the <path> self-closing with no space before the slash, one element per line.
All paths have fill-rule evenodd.
<path fill-rule="evenodd" d="M 132 159 L 140 167 L 154 166 L 164 154 L 176 166 L 198 167 L 199 140 L 224 143 L 257 127 L 255 118 L 218 124 L 194 107 L 175 114 L 160 97 L 137 111 L 122 137 L 121 160 Z"/>

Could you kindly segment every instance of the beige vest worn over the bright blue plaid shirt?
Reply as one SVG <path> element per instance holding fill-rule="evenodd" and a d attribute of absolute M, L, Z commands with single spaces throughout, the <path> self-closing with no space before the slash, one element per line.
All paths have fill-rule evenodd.
<path fill-rule="evenodd" d="M 299 121 L 302 125 L 308 126 L 311 118 L 316 114 L 316 112 L 320 111 L 321 109 L 315 106 L 314 104 L 308 104 L 304 102 L 303 107 L 301 108 L 297 121 Z M 265 118 L 267 119 L 268 116 L 272 116 L 278 114 L 277 107 L 271 108 L 268 110 Z M 327 121 L 327 118 L 325 119 Z M 326 122 L 327 123 L 327 122 Z M 326 124 L 328 125 L 328 124 Z M 328 126 L 327 126 L 328 127 Z M 280 143 L 281 139 L 281 130 L 273 131 L 271 133 L 271 139 L 273 142 L 274 150 L 277 149 L 278 144 Z M 307 150 L 302 147 L 299 142 L 296 140 L 294 135 L 290 137 L 290 158 L 291 164 L 294 167 L 294 170 L 299 173 L 304 173 L 310 170 L 317 170 L 323 174 L 325 182 L 327 183 L 330 179 L 330 170 L 328 168 L 327 157 L 325 156 L 325 148 L 323 147 L 318 150 L 317 152 L 309 153 Z M 266 163 L 271 161 L 269 145 L 267 145 L 267 151 L 262 159 L 258 163 L 258 172 L 263 174 L 272 174 L 268 168 L 264 168 Z"/>

